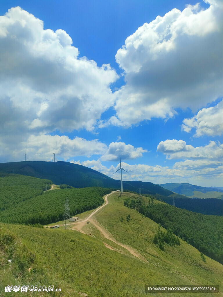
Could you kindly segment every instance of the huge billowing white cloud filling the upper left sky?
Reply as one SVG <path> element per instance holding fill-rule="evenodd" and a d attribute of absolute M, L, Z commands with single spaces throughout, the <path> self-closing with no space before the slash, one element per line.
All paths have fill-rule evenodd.
<path fill-rule="evenodd" d="M 91 130 L 114 104 L 115 70 L 78 58 L 65 31 L 44 30 L 43 21 L 15 7 L 0 17 L 0 43 L 0 121 L 8 133 L 13 126 L 32 133 Z"/>

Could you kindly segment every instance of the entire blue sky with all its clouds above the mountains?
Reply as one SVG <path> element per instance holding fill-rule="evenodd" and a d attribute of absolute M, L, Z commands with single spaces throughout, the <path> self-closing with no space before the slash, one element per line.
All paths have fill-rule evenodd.
<path fill-rule="evenodd" d="M 0 162 L 56 151 L 119 178 L 122 157 L 125 180 L 223 185 L 222 1 L 3 1 L 0 12 Z"/>

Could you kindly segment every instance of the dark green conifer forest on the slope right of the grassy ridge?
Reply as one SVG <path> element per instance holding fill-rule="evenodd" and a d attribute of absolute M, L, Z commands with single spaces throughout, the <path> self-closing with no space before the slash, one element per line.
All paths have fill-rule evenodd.
<path fill-rule="evenodd" d="M 161 224 L 200 252 L 223 264 L 223 217 L 209 216 L 151 199 L 126 199 L 124 205 Z"/>

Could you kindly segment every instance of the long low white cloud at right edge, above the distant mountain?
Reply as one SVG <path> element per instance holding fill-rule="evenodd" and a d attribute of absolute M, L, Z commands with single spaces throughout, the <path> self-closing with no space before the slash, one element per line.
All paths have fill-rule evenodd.
<path fill-rule="evenodd" d="M 158 144 L 157 151 L 166 155 L 167 159 L 221 160 L 223 158 L 223 144 L 215 141 L 210 141 L 206 146 L 193 147 L 183 140 L 167 139 Z"/>

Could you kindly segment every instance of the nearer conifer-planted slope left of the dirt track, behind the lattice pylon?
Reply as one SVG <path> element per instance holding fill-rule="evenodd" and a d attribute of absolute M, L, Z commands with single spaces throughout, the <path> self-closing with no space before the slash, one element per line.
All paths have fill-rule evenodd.
<path fill-rule="evenodd" d="M 70 216 L 74 216 L 103 204 L 102 197 L 111 191 L 99 187 L 58 189 L 18 203 L 8 200 L 9 205 L 5 203 L 5 210 L 0 212 L 0 222 L 51 224 L 63 219 L 66 198 L 69 200 Z"/>

